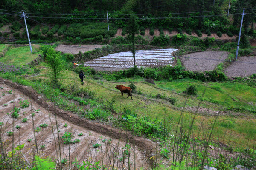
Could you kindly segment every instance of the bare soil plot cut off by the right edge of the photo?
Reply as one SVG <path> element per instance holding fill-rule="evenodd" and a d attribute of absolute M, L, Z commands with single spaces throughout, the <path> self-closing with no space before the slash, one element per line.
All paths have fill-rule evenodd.
<path fill-rule="evenodd" d="M 224 72 L 227 77 L 245 77 L 256 74 L 256 57 L 238 57 L 237 62 L 230 64 Z"/>

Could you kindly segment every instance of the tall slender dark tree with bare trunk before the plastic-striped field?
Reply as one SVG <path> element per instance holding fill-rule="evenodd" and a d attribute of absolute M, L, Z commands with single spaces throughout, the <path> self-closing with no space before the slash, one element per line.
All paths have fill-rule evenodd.
<path fill-rule="evenodd" d="M 130 19 L 127 22 L 127 33 L 131 36 L 132 41 L 132 57 L 134 58 L 134 66 L 135 66 L 135 47 L 134 47 L 134 36 L 135 34 L 139 34 L 139 24 L 136 21 L 135 15 L 130 15 Z"/>

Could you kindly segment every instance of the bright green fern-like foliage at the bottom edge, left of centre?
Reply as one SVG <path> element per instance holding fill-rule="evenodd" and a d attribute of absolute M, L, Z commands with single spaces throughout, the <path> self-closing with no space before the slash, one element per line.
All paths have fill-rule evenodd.
<path fill-rule="evenodd" d="M 50 159 L 42 159 L 35 155 L 35 165 L 32 170 L 54 170 L 56 164 Z"/>

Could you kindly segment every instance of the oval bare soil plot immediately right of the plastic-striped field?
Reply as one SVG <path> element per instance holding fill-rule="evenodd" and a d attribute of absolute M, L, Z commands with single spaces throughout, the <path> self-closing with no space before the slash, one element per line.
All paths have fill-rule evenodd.
<path fill-rule="evenodd" d="M 226 51 L 204 51 L 186 54 L 183 56 L 184 58 L 180 57 L 180 60 L 187 70 L 209 71 L 214 70 L 216 65 L 223 62 L 227 56 L 228 52 Z"/>

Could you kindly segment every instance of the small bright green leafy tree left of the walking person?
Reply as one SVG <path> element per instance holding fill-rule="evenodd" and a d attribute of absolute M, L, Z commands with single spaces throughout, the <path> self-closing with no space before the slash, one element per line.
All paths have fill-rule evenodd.
<path fill-rule="evenodd" d="M 46 52 L 46 62 L 50 66 L 50 79 L 52 85 L 59 84 L 59 79 L 61 77 L 61 71 L 63 71 L 63 65 L 61 63 L 61 54 L 57 53 L 54 48 L 48 48 Z"/>

